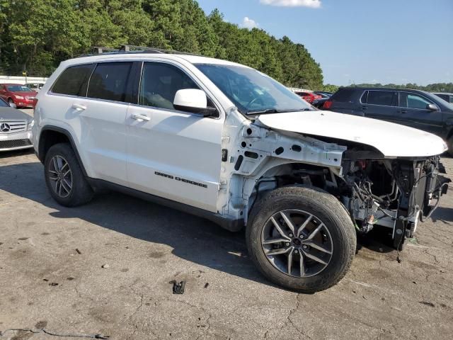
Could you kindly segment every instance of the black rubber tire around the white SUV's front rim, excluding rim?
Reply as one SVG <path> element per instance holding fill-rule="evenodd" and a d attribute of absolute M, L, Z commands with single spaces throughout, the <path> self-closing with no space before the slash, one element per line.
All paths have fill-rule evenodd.
<path fill-rule="evenodd" d="M 283 273 L 270 263 L 261 244 L 263 228 L 270 217 L 279 211 L 294 209 L 314 215 L 331 236 L 330 262 L 314 276 L 294 277 Z M 248 220 L 246 243 L 256 266 L 270 281 L 289 290 L 315 293 L 336 285 L 348 272 L 355 256 L 357 236 L 348 212 L 334 196 L 316 188 L 283 187 L 270 191 L 253 208 Z M 302 258 L 302 252 L 299 255 Z"/>

